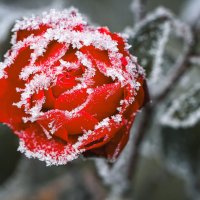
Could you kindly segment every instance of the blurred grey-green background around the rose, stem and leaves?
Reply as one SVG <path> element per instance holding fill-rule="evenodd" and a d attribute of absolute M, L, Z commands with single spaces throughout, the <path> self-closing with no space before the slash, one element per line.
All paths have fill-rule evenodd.
<path fill-rule="evenodd" d="M 148 11 L 158 6 L 167 7 L 181 20 L 191 23 L 200 16 L 199 2 L 147 0 L 146 6 Z M 132 0 L 0 0 L 0 60 L 9 48 L 14 21 L 22 16 L 74 6 L 91 23 L 123 32 L 134 24 L 131 3 Z M 198 81 L 199 70 L 191 70 L 190 74 L 190 79 L 194 77 Z M 180 87 L 184 84 L 182 81 Z M 17 147 L 16 136 L 8 127 L 0 125 L 0 200 L 106 199 L 109 187 L 102 184 L 93 160 L 78 159 L 66 166 L 46 167 L 38 160 L 25 158 L 17 152 Z M 199 123 L 184 129 L 153 123 L 140 156 L 127 198 L 200 199 Z"/>

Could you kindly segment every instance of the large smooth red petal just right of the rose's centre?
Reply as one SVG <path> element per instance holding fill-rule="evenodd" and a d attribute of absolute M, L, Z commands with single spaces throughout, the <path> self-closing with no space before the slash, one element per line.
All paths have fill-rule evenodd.
<path fill-rule="evenodd" d="M 103 85 L 90 95 L 84 111 L 102 120 L 116 113 L 122 97 L 123 89 L 119 83 Z"/>

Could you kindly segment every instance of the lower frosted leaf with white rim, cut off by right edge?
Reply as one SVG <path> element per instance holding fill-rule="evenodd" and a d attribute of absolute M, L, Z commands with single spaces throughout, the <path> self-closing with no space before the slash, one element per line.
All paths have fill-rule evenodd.
<path fill-rule="evenodd" d="M 175 99 L 161 118 L 161 124 L 174 128 L 190 127 L 200 120 L 200 84 Z"/>

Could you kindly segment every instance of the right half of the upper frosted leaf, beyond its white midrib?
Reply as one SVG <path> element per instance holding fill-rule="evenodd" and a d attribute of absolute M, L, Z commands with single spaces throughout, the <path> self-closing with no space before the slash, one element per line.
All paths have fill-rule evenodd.
<path fill-rule="evenodd" d="M 152 91 L 157 97 L 171 85 L 174 75 L 185 62 L 193 41 L 192 30 L 187 24 L 172 18 L 171 26 L 170 42 L 164 54 L 163 73 L 160 78 L 162 81 L 156 90 Z"/>

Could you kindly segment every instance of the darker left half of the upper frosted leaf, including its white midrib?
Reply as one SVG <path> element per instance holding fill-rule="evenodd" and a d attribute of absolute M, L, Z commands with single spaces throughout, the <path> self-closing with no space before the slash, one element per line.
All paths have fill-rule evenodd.
<path fill-rule="evenodd" d="M 146 16 L 133 29 L 126 30 L 130 35 L 131 52 L 138 57 L 146 69 L 147 78 L 157 82 L 161 74 L 163 53 L 170 33 L 172 14 L 159 8 Z"/>

